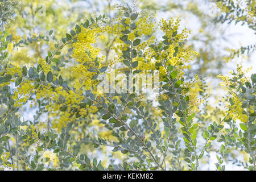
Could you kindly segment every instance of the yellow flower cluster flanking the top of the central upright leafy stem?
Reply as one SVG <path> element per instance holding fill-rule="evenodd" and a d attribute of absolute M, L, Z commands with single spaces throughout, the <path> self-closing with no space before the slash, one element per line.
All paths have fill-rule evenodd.
<path fill-rule="evenodd" d="M 124 26 L 122 23 L 126 23 L 127 26 Z M 134 24 L 133 24 L 134 23 Z M 117 35 L 118 38 L 115 39 L 114 45 L 111 47 L 112 50 L 114 50 L 118 56 L 114 57 L 113 60 L 110 60 L 110 68 L 118 69 L 119 63 L 122 62 L 119 57 L 122 57 L 122 51 L 127 51 L 127 49 L 130 49 L 130 45 L 124 43 L 121 39 L 123 34 L 122 31 L 128 30 L 130 33 L 127 35 L 127 40 L 133 42 L 135 39 L 141 39 L 141 43 L 133 47 L 133 49 L 137 50 L 137 52 L 141 51 L 143 52 L 143 56 L 137 56 L 133 58 L 134 61 L 138 61 L 137 69 L 140 69 L 141 71 L 151 71 L 154 69 L 154 60 L 151 59 L 150 49 L 148 48 L 151 43 L 154 43 L 155 36 L 150 36 L 148 38 L 148 35 L 152 35 L 154 30 L 154 21 L 152 21 L 151 16 L 144 16 L 143 18 L 138 18 L 135 20 L 131 20 L 130 18 L 118 18 L 117 23 L 114 24 L 114 26 L 106 27 L 106 32 L 108 34 L 114 34 Z M 131 28 L 133 27 L 133 28 Z M 142 42 L 142 38 L 145 39 Z M 118 71 L 123 72 L 125 69 L 121 68 Z"/>

